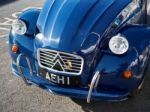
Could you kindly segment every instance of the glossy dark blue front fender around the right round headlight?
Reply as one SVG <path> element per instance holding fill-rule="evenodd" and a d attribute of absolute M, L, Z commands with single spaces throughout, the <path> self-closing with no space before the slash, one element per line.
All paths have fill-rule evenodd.
<path fill-rule="evenodd" d="M 129 41 L 128 52 L 115 55 L 107 48 L 103 51 L 95 71 L 100 71 L 102 76 L 99 84 L 133 91 L 142 82 L 148 65 L 150 28 L 143 25 L 127 26 L 118 33 L 124 35 Z M 123 78 L 122 74 L 125 70 L 133 71 L 134 75 L 130 80 Z"/>

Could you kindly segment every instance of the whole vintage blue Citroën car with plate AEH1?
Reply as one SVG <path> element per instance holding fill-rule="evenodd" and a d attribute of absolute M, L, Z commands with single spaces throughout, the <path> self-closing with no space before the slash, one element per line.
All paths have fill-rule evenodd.
<path fill-rule="evenodd" d="M 150 58 L 147 0 L 47 0 L 12 24 L 12 72 L 71 98 L 122 101 L 142 87 Z"/>

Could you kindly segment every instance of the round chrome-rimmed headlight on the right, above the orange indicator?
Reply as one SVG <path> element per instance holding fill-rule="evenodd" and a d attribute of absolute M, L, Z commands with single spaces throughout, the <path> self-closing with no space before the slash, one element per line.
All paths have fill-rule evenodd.
<path fill-rule="evenodd" d="M 125 37 L 118 34 L 110 39 L 109 48 L 114 54 L 121 55 L 128 51 L 129 43 Z"/>

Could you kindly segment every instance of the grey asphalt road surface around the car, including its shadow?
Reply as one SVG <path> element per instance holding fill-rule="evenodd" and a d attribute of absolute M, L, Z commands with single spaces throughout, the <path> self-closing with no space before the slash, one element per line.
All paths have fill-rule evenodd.
<path fill-rule="evenodd" d="M 150 67 L 143 91 L 124 102 L 92 102 L 55 96 L 28 87 L 11 74 L 8 32 L 13 19 L 27 7 L 41 7 L 44 0 L 0 1 L 0 112 L 150 112 Z"/>

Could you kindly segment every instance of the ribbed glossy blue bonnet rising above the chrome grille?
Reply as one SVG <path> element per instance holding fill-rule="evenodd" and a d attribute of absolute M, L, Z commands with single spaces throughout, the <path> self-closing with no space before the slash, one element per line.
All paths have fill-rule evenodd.
<path fill-rule="evenodd" d="M 37 22 L 40 32 L 45 37 L 44 44 L 41 43 L 42 47 L 67 52 L 81 50 L 87 35 L 91 32 L 99 32 L 101 35 L 129 2 L 130 0 L 60 0 L 49 7 L 47 4 L 52 1 L 48 0 Z M 111 9 L 114 9 L 113 14 Z"/>

